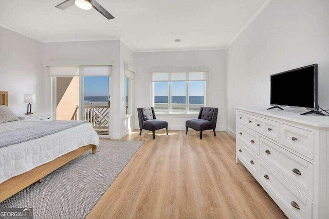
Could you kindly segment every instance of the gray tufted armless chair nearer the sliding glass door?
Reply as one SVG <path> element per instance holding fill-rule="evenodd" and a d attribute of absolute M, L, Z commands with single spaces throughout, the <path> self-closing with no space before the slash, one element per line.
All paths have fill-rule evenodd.
<path fill-rule="evenodd" d="M 142 134 L 142 130 L 152 131 L 153 139 L 155 138 L 155 130 L 165 129 L 168 135 L 168 122 L 156 119 L 154 113 L 154 107 L 137 108 L 138 120 L 139 120 L 139 135 Z"/>

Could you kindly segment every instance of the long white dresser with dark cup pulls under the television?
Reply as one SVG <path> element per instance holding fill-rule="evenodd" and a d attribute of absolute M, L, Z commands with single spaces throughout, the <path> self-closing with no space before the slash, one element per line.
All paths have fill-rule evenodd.
<path fill-rule="evenodd" d="M 236 107 L 241 161 L 289 218 L 329 218 L 329 116 Z"/>

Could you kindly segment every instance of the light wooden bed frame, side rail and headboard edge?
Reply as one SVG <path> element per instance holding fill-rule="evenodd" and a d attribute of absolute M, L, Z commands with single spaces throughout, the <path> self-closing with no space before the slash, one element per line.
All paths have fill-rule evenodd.
<path fill-rule="evenodd" d="M 0 105 L 8 106 L 8 92 L 0 92 Z M 96 153 L 96 145 L 88 144 L 78 148 L 77 150 L 64 154 L 48 163 L 45 163 L 44 165 L 36 167 L 26 173 L 14 176 L 2 182 L 2 184 L 0 184 L 0 203 L 10 196 L 16 194 L 17 192 L 25 189 L 34 182 L 42 182 L 43 177 L 62 167 L 89 149 L 92 149 L 93 154 Z"/>

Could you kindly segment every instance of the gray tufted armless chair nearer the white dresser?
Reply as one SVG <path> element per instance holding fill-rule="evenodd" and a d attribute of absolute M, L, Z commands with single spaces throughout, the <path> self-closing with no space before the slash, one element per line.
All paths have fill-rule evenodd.
<path fill-rule="evenodd" d="M 200 139 L 202 139 L 202 131 L 213 130 L 216 136 L 216 123 L 217 123 L 218 108 L 201 107 L 197 119 L 190 119 L 185 122 L 186 134 L 188 128 L 200 131 Z"/>

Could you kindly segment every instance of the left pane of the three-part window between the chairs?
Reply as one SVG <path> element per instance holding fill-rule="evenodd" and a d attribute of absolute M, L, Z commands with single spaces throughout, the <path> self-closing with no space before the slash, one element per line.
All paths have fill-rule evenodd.
<path fill-rule="evenodd" d="M 169 113 L 169 82 L 154 83 L 154 109 L 157 113 Z"/>

